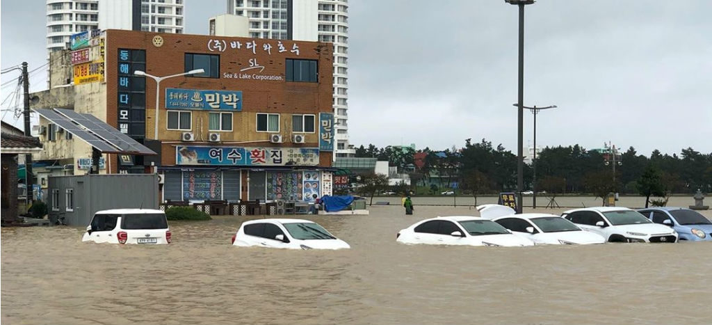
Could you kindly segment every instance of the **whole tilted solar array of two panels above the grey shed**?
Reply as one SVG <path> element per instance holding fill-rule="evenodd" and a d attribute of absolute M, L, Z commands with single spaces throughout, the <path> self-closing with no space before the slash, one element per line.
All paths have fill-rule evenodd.
<path fill-rule="evenodd" d="M 112 128 L 111 125 L 102 122 L 93 115 L 57 108 L 54 110 L 36 108 L 34 111 L 102 153 L 156 155 L 149 148 L 120 133 L 119 130 Z"/>

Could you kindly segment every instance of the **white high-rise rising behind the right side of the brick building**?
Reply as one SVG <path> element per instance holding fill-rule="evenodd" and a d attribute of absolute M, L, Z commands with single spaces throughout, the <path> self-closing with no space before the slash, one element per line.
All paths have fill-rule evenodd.
<path fill-rule="evenodd" d="M 334 43 L 335 156 L 353 157 L 348 135 L 348 1 L 226 0 L 227 13 L 249 19 L 248 36 Z"/>

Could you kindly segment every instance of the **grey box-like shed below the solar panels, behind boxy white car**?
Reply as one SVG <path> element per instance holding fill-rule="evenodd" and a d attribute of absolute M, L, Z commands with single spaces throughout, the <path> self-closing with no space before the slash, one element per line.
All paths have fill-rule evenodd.
<path fill-rule="evenodd" d="M 66 190 L 74 195 L 73 211 L 67 211 Z M 53 210 L 53 190 L 59 190 L 59 211 Z M 58 176 L 49 178 L 48 210 L 65 218 L 67 225 L 89 225 L 100 210 L 143 207 L 158 209 L 158 175 L 115 174 Z"/>

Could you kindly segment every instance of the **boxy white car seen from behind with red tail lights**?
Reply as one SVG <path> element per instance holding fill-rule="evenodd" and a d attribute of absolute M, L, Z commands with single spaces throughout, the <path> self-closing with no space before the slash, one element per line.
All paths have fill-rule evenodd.
<path fill-rule="evenodd" d="M 171 232 L 161 210 L 103 210 L 94 214 L 82 242 L 170 244 Z"/>

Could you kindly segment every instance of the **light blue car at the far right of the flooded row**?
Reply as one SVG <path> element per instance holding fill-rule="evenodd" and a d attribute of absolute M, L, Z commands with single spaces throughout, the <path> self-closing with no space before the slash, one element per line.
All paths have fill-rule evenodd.
<path fill-rule="evenodd" d="M 679 240 L 712 241 L 712 222 L 695 210 L 684 207 L 650 207 L 638 210 L 652 222 L 668 225 L 679 234 Z"/>

